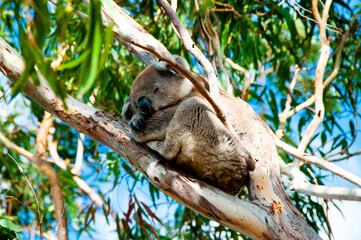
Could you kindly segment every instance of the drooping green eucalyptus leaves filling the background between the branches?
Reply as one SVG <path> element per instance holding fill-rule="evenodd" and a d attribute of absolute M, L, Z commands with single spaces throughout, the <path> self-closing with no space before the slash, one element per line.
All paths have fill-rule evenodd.
<path fill-rule="evenodd" d="M 29 77 L 37 81 L 36 70 L 46 76 L 52 89 L 62 98 L 69 94 L 120 115 L 131 83 L 144 65 L 113 38 L 111 26 L 102 27 L 100 7 L 108 1 L 93 0 L 88 5 L 83 1 L 63 0 L 0 1 L 0 36 L 19 51 L 26 63 L 17 84 L 11 85 L 5 77 L 0 79 L 0 132 L 11 142 L 36 152 L 35 138 L 43 110 L 20 93 Z M 156 1 L 117 1 L 117 4 L 129 11 L 170 52 L 184 56 L 192 63 L 194 71 L 202 73 Z M 357 119 L 361 115 L 357 106 L 360 106 L 361 91 L 361 17 L 350 27 L 360 7 L 354 1 L 337 0 L 329 14 L 327 33 L 335 54 L 331 55 L 326 78 L 338 64 L 338 46 L 345 42 L 339 74 L 324 92 L 325 119 L 307 148 L 308 153 L 324 158 L 350 157 L 349 146 L 360 129 Z M 281 127 L 279 114 L 285 107 L 296 68 L 301 71 L 293 89 L 291 108 L 313 95 L 320 44 L 318 27 L 310 10 L 311 3 L 306 0 L 281 3 L 178 1 L 177 6 L 179 18 L 194 42 L 217 66 L 224 86 L 229 75 L 234 94 L 241 96 L 248 74 L 252 84 L 247 100 L 274 131 Z M 343 39 L 347 31 L 349 36 Z M 211 44 L 211 38 L 215 39 L 215 44 Z M 226 59 L 246 71 L 236 70 Z M 282 140 L 297 146 L 313 115 L 310 108 L 288 119 Z M 343 122 L 345 119 L 347 124 Z M 116 223 L 114 230 L 119 239 L 237 239 L 236 232 L 166 197 L 120 155 L 85 138 L 81 178 L 105 201 L 103 206 L 95 204 L 84 194 L 71 172 L 79 134 L 56 120 L 51 136 L 60 158 L 67 165 L 62 169 L 53 164 L 61 179 L 70 234 L 83 237 L 101 231 L 96 227 L 97 218 L 105 218 L 107 222 Z M 7 152 L 4 143 L 0 144 L 4 149 L 0 152 L 0 236 L 27 236 L 28 229 L 39 221 L 33 191 L 24 175 L 41 202 L 44 231 L 55 229 L 49 181 L 31 159 L 15 151 Z M 330 156 L 333 153 L 337 154 Z M 289 155 L 281 153 L 281 157 L 285 163 L 293 161 Z M 23 175 L 15 161 L 24 169 Z M 310 182 L 317 179 L 317 184 L 322 184 L 324 172 L 317 167 L 302 166 L 301 170 Z M 116 194 L 126 195 L 127 199 L 117 199 Z M 317 231 L 329 233 L 320 201 L 295 192 L 290 196 Z M 171 207 L 164 210 L 161 207 L 164 204 Z M 110 209 L 114 210 L 114 215 Z M 22 227 L 22 233 L 16 235 L 19 229 L 12 223 Z M 39 231 L 39 225 L 36 229 Z"/>

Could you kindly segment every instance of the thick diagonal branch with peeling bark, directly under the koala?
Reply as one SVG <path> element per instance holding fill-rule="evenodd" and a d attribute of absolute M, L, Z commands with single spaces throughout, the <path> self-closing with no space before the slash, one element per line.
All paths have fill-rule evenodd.
<path fill-rule="evenodd" d="M 2 71 L 12 81 L 16 81 L 24 69 L 21 57 L 2 39 L 0 39 L 0 64 Z M 288 209 L 289 203 L 283 204 L 276 201 L 275 204 L 280 205 L 267 207 L 261 204 L 261 200 L 254 203 L 242 201 L 195 179 L 190 180 L 179 171 L 157 160 L 157 157 L 149 150 L 132 140 L 129 127 L 120 121 L 119 117 L 87 106 L 71 97 L 66 99 L 69 109 L 65 110 L 43 76 L 40 74 L 38 76 L 40 85 L 36 86 L 31 81 L 26 84 L 23 91 L 28 96 L 77 131 L 123 155 L 157 188 L 194 211 L 254 239 L 289 239 L 290 234 L 295 234 L 293 236 L 299 239 L 319 239 L 302 217 Z M 245 107 L 245 114 L 257 115 L 248 105 Z M 257 119 L 255 123 L 260 126 L 264 124 Z M 260 127 L 258 131 L 261 130 Z M 265 153 L 269 150 L 263 149 Z M 277 155 L 277 152 L 275 154 Z M 270 166 L 261 166 L 258 171 L 270 171 Z M 276 184 L 280 185 L 280 182 Z M 259 187 L 272 189 L 272 186 L 268 185 Z M 282 189 L 282 186 L 278 189 Z M 271 194 L 272 201 L 274 198 L 272 194 L 275 193 L 272 190 L 264 191 L 264 196 L 267 196 L 268 192 Z M 280 222 L 279 217 L 285 222 Z"/>

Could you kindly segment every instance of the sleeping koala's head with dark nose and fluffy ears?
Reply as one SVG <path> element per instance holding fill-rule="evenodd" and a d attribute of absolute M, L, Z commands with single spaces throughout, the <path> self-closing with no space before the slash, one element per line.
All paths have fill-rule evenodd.
<path fill-rule="evenodd" d="M 190 69 L 184 58 L 176 55 L 173 58 L 183 68 Z M 153 63 L 134 80 L 130 97 L 123 107 L 123 117 L 130 120 L 137 112 L 151 115 L 173 106 L 192 89 L 192 83 L 169 64 L 163 61 Z"/>

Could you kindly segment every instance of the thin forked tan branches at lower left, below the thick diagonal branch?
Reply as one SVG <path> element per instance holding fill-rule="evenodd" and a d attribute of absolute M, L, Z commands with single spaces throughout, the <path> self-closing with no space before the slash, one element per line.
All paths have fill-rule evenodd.
<path fill-rule="evenodd" d="M 69 164 L 63 159 L 60 158 L 58 151 L 57 151 L 57 142 L 53 141 L 53 137 L 51 134 L 47 137 L 47 143 L 44 143 L 44 137 L 48 134 L 47 128 L 50 127 L 48 123 L 53 121 L 53 116 L 49 113 L 45 112 L 44 119 L 42 125 L 39 128 L 38 136 L 37 136 L 37 154 L 33 154 L 26 149 L 21 148 L 20 146 L 15 145 L 11 142 L 10 139 L 5 137 L 0 132 L 0 142 L 4 144 L 4 147 L 8 150 L 12 150 L 17 154 L 26 157 L 29 159 L 30 163 L 39 168 L 45 175 L 48 177 L 49 182 L 51 183 L 51 195 L 54 202 L 54 210 L 55 210 L 55 219 L 57 222 L 56 225 L 56 232 L 57 234 L 52 234 L 50 231 L 43 232 L 42 228 L 42 214 L 39 210 L 39 222 L 40 226 L 36 229 L 30 229 L 29 231 L 36 231 L 39 233 L 40 236 L 43 236 L 47 239 L 67 239 L 68 238 L 68 231 L 67 231 L 67 215 L 65 212 L 64 206 L 64 199 L 63 199 L 63 192 L 61 189 L 61 181 L 55 171 L 55 169 L 49 163 L 54 163 L 62 170 L 66 170 L 67 167 L 71 168 L 71 173 L 73 174 L 73 180 L 76 182 L 79 189 L 85 194 L 86 197 L 95 205 L 95 207 L 104 208 L 113 218 L 117 221 L 117 214 L 116 212 L 108 206 L 103 197 L 97 193 L 95 189 L 90 187 L 81 177 L 81 162 L 83 161 L 83 154 L 84 154 L 84 146 L 82 143 L 83 134 L 80 134 L 78 138 L 78 146 L 77 146 L 77 153 L 76 153 L 76 161 L 75 164 Z M 45 156 L 45 144 L 47 145 L 47 149 L 50 154 L 50 158 L 46 158 Z M 40 154 L 41 153 L 41 154 Z M 21 172 L 23 172 L 21 170 Z M 30 185 L 30 183 L 29 183 Z M 34 191 L 35 195 L 35 191 Z M 38 207 L 39 201 L 36 201 Z M 121 221 L 118 222 L 119 226 L 123 228 L 123 223 Z M 25 226 L 24 226 L 25 227 Z M 29 228 L 29 226 L 26 226 Z M 50 235 L 49 235 L 50 234 Z"/>

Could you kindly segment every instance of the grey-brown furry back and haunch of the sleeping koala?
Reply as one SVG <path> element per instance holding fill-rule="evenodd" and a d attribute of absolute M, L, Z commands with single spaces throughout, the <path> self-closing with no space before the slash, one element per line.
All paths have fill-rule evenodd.
<path fill-rule="evenodd" d="M 193 97 L 182 102 L 168 131 L 177 131 L 179 139 L 167 137 L 181 142 L 175 161 L 183 171 L 232 195 L 248 181 L 247 161 L 251 156 L 240 151 L 204 100 Z"/>

